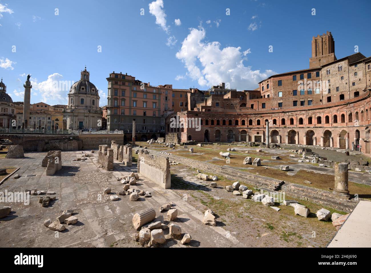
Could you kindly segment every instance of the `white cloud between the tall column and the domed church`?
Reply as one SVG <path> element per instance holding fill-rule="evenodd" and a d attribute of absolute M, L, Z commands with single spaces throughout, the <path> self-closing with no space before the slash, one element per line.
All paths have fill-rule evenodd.
<path fill-rule="evenodd" d="M 30 81 L 33 90 L 39 91 L 41 101 L 51 105 L 67 103 L 69 86 L 64 85 L 65 80 L 59 73 L 49 75 L 47 80 L 42 82 L 38 82 L 36 78 L 31 78 Z"/>

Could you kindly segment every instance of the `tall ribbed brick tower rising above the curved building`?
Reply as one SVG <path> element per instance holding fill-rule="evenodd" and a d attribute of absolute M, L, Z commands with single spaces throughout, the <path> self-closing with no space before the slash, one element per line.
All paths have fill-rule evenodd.
<path fill-rule="evenodd" d="M 309 68 L 325 65 L 336 60 L 335 42 L 331 32 L 312 39 L 312 57 L 309 58 Z"/>

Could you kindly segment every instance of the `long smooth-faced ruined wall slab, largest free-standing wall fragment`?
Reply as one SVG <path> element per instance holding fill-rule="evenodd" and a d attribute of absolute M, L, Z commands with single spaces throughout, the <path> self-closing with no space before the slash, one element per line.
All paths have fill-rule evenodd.
<path fill-rule="evenodd" d="M 156 157 L 147 150 L 138 153 L 138 173 L 155 182 L 160 187 L 171 187 L 170 162 L 168 157 Z"/>

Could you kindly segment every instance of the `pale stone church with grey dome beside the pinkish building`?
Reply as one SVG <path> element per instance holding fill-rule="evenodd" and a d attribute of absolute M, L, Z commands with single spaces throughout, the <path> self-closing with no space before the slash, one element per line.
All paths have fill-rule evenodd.
<path fill-rule="evenodd" d="M 63 110 L 67 129 L 101 128 L 98 89 L 89 81 L 90 73 L 81 71 L 81 79 L 68 93 L 68 106 Z"/>

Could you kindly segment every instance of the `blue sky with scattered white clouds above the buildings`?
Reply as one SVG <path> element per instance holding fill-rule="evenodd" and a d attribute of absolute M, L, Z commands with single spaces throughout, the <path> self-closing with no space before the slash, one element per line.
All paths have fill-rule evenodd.
<path fill-rule="evenodd" d="M 327 30 L 338 59 L 356 45 L 370 56 L 370 10 L 368 0 L 0 0 L 0 77 L 23 101 L 30 73 L 31 102 L 52 105 L 67 103 L 55 82 L 79 80 L 85 65 L 101 106 L 112 71 L 173 88 L 224 81 L 254 89 L 274 73 L 308 68 L 312 36 Z"/>

